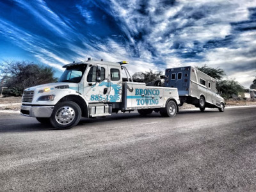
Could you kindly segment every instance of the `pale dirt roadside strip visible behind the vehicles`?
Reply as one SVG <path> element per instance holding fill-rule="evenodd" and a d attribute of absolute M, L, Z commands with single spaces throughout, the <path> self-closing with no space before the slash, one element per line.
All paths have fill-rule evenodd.
<path fill-rule="evenodd" d="M 3 97 L 0 98 L 0 110 L 20 110 L 20 102 L 22 97 Z M 226 106 L 254 106 L 256 99 L 252 100 L 226 100 Z M 180 109 L 193 109 L 195 106 L 184 104 Z"/>

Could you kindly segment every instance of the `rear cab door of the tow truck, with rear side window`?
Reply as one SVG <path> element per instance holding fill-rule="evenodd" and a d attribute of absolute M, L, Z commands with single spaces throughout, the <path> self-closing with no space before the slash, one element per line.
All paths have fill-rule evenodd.
<path fill-rule="evenodd" d="M 108 102 L 122 102 L 122 79 L 120 68 L 108 67 Z"/>

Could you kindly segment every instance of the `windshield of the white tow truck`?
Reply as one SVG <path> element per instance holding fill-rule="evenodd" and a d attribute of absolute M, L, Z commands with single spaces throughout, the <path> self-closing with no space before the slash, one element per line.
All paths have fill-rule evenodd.
<path fill-rule="evenodd" d="M 67 67 L 58 82 L 79 83 L 83 77 L 87 65 L 75 65 Z"/>

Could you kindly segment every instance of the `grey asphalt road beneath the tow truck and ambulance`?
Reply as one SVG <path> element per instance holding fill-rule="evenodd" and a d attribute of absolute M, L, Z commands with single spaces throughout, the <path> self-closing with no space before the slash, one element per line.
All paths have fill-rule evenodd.
<path fill-rule="evenodd" d="M 54 130 L 0 113 L 0 191 L 256 191 L 256 108 Z"/>

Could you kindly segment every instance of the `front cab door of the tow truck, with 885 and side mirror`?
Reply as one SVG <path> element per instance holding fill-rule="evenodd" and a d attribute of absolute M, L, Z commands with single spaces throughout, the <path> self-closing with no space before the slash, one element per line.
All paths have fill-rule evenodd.
<path fill-rule="evenodd" d="M 97 72 L 100 72 L 100 82 L 98 83 L 96 82 Z M 84 98 L 89 102 L 106 102 L 108 100 L 106 72 L 108 72 L 106 66 L 93 65 L 88 68 L 88 73 L 84 76 Z"/>

